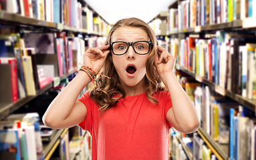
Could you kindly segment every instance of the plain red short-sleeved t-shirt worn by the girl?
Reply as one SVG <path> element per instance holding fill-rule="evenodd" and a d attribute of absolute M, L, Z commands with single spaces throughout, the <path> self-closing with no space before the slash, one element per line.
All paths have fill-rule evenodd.
<path fill-rule="evenodd" d="M 172 103 L 168 91 L 158 91 L 153 97 L 157 105 L 146 93 L 126 96 L 102 114 L 89 93 L 78 99 L 87 109 L 79 126 L 92 135 L 92 160 L 168 159 L 172 125 L 166 113 Z"/>

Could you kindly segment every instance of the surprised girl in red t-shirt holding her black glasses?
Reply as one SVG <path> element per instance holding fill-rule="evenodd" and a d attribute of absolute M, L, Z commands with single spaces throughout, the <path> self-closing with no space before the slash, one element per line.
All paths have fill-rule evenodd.
<path fill-rule="evenodd" d="M 79 124 L 89 131 L 92 159 L 168 159 L 169 129 L 193 133 L 200 125 L 174 64 L 144 21 L 122 19 L 105 46 L 86 51 L 85 66 L 55 97 L 43 122 L 54 129 Z M 93 80 L 96 87 L 77 100 Z M 159 87 L 161 81 L 168 91 Z"/>

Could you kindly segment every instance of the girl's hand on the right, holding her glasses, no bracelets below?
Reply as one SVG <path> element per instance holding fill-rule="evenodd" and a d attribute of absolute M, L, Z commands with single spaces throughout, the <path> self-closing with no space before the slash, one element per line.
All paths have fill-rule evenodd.
<path fill-rule="evenodd" d="M 156 71 L 158 75 L 172 72 L 174 70 L 174 65 L 176 58 L 168 53 L 168 51 L 160 46 L 157 46 L 158 54 L 154 58 L 154 65 L 156 66 Z M 159 56 L 158 56 L 159 55 Z"/>

